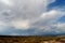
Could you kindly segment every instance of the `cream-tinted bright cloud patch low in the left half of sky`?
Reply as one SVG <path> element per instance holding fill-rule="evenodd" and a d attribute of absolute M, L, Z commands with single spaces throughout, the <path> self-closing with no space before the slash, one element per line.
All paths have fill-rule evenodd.
<path fill-rule="evenodd" d="M 13 20 L 11 22 L 11 25 L 16 29 L 26 30 L 29 28 L 29 20 Z"/>

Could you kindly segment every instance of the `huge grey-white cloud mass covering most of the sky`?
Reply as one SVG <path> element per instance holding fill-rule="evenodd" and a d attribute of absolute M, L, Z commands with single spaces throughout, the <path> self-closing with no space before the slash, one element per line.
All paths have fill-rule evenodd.
<path fill-rule="evenodd" d="M 6 27 L 10 26 L 21 30 L 35 29 L 36 32 L 37 31 L 46 32 L 54 30 L 56 31 L 57 28 L 52 29 L 56 27 L 53 25 L 56 24 L 56 20 L 60 17 L 65 15 L 64 12 L 60 9 L 47 12 L 47 6 L 50 3 L 55 2 L 55 0 L 12 0 L 12 1 L 14 2 L 14 4 L 11 8 L 3 5 L 4 8 L 1 8 L 2 10 L 0 12 L 0 19 L 1 22 L 4 22 L 1 24 L 3 26 L 8 25 Z M 9 5 L 11 4 L 11 1 L 8 0 L 3 0 L 2 2 Z M 63 26 L 57 25 L 57 27 L 60 28 L 63 28 Z"/>

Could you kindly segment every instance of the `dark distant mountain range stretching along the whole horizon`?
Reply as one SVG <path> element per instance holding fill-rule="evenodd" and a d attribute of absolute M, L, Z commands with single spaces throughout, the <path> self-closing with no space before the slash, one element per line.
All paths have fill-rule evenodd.
<path fill-rule="evenodd" d="M 65 35 L 65 32 L 62 32 L 62 33 L 42 32 L 42 33 L 34 34 L 34 35 L 37 35 L 37 37 L 61 37 L 61 35 Z M 4 34 L 0 34 L 0 37 L 34 37 L 34 35 L 4 35 Z"/>

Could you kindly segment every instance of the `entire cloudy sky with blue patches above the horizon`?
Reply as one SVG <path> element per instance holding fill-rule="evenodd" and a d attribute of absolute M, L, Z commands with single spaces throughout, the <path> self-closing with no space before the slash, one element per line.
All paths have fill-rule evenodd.
<path fill-rule="evenodd" d="M 0 34 L 65 32 L 65 0 L 0 0 Z"/>

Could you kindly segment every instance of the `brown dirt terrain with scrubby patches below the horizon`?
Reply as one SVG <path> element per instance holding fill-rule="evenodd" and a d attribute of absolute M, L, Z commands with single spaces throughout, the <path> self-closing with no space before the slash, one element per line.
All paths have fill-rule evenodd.
<path fill-rule="evenodd" d="M 65 43 L 65 37 L 0 35 L 0 43 Z"/>

